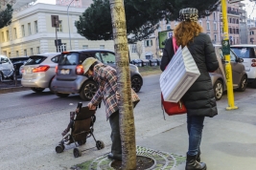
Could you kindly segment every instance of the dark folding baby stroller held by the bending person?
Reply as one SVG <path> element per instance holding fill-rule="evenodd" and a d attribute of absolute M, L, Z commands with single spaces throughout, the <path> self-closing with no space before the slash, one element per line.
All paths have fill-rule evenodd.
<path fill-rule="evenodd" d="M 81 150 L 78 146 L 85 144 L 86 138 L 90 137 L 94 138 L 98 150 L 105 147 L 104 142 L 102 140 L 96 140 L 93 135 L 93 124 L 96 121 L 95 112 L 95 110 L 89 110 L 87 106 L 81 107 L 80 112 L 75 115 L 68 133 L 59 141 L 58 146 L 56 146 L 57 153 L 63 152 L 65 145 L 75 143 L 76 148 L 73 150 L 74 157 L 81 157 Z"/>

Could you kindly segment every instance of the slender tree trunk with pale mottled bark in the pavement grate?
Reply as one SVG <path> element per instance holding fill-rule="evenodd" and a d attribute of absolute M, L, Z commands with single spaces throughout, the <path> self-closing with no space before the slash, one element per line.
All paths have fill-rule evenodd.
<path fill-rule="evenodd" d="M 128 62 L 128 36 L 123 0 L 109 0 L 118 74 L 122 169 L 136 169 L 136 143 Z"/>

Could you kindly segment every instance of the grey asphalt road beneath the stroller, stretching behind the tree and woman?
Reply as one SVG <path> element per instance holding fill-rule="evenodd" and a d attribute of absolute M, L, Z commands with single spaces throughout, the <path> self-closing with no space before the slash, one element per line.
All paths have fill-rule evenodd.
<path fill-rule="evenodd" d="M 255 94 L 248 88 L 235 92 L 236 100 Z M 144 76 L 144 86 L 138 93 L 141 101 L 134 109 L 136 139 L 139 141 L 167 132 L 186 123 L 185 115 L 163 118 L 160 106 L 159 74 Z M 88 138 L 82 155 L 73 157 L 74 144 L 61 154 L 55 147 L 61 132 L 69 122 L 69 112 L 81 101 L 80 96 L 59 98 L 50 92 L 35 94 L 23 91 L 0 95 L 0 170 L 63 170 L 85 160 L 98 158 L 110 151 L 110 126 L 105 119 L 105 106 L 96 113 L 94 135 L 105 142 L 97 150 L 93 138 Z M 83 102 L 85 105 L 87 102 Z M 226 96 L 218 101 L 218 108 L 227 106 Z M 153 141 L 151 141 L 153 143 Z"/>

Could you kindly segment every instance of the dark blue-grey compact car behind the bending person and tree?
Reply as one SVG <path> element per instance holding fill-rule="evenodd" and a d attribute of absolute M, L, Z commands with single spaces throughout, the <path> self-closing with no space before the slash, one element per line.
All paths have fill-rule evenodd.
<path fill-rule="evenodd" d="M 81 99 L 90 100 L 98 90 L 97 83 L 83 75 L 81 63 L 87 57 L 96 57 L 101 62 L 115 67 L 115 53 L 107 50 L 80 50 L 61 53 L 58 61 L 57 73 L 53 79 L 51 88 L 57 96 L 64 97 L 70 94 L 80 94 Z M 143 79 L 138 67 L 129 65 L 131 87 L 139 92 L 143 85 Z"/>

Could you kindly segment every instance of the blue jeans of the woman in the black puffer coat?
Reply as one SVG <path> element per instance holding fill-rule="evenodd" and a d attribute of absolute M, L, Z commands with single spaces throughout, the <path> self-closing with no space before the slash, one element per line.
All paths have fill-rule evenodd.
<path fill-rule="evenodd" d="M 187 116 L 187 128 L 189 134 L 189 156 L 198 155 L 201 133 L 203 128 L 204 117 L 189 117 Z"/>

